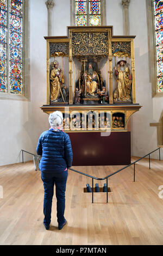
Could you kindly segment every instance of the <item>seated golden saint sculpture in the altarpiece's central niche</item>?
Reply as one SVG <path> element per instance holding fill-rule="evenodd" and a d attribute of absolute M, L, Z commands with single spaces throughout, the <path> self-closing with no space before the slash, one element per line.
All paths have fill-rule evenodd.
<path fill-rule="evenodd" d="M 99 77 L 96 71 L 92 69 L 92 63 L 89 63 L 88 69 L 83 74 L 82 93 L 90 96 L 95 96 L 99 84 Z"/>

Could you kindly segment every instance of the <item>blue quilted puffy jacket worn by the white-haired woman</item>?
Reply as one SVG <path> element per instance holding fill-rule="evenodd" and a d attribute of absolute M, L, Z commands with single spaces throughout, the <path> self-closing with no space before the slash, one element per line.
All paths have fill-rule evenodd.
<path fill-rule="evenodd" d="M 49 129 L 40 135 L 37 154 L 41 155 L 41 172 L 57 173 L 72 166 L 70 137 L 63 131 Z"/>

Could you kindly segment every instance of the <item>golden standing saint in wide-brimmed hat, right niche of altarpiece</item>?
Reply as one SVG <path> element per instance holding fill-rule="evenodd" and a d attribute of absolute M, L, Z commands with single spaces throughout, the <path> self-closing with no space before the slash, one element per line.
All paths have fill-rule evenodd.
<path fill-rule="evenodd" d="M 131 75 L 126 66 L 126 60 L 120 60 L 115 67 L 115 75 L 118 82 L 118 88 L 115 90 L 114 101 L 131 101 Z"/>

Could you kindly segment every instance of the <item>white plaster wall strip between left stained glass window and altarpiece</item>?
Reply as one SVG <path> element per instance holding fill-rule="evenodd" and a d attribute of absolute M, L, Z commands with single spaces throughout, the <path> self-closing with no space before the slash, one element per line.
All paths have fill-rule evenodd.
<path fill-rule="evenodd" d="M 30 87 L 29 127 L 35 150 L 40 133 L 48 128 L 48 115 L 40 107 L 46 104 L 47 7 L 45 0 L 30 0 Z"/>

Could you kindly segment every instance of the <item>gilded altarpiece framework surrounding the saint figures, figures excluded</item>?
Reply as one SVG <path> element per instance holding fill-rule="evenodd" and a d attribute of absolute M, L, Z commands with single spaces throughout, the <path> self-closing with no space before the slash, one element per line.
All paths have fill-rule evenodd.
<path fill-rule="evenodd" d="M 65 120 L 67 117 L 70 121 L 70 126 L 65 124 L 64 127 L 67 132 L 127 131 L 129 118 L 141 108 L 139 103 L 136 103 L 135 96 L 134 38 L 135 36 L 114 36 L 112 26 L 67 27 L 67 36 L 46 36 L 47 102 L 41 107 L 42 111 L 48 114 L 55 110 L 61 111 Z M 64 74 L 68 92 L 67 101 L 62 95 L 62 88 L 59 88 L 59 92 L 63 100 L 51 101 L 50 76 L 53 61 L 55 63 L 57 58 L 60 60 L 62 70 L 67 72 L 66 75 Z M 120 60 L 123 60 L 123 64 L 130 70 L 129 75 L 131 77 L 130 91 L 128 89 L 130 99 L 124 102 L 115 100 L 116 89 L 118 90 L 120 87 L 118 78 L 115 78 L 115 66 L 120 65 Z M 89 62 L 94 64 L 92 64 L 92 68 L 93 70 L 96 69 L 100 82 L 100 88 L 96 88 L 93 96 L 86 93 L 86 82 L 85 84 L 81 82 L 83 77 L 85 79 L 83 74 L 86 73 Z M 77 65 L 80 66 L 78 77 L 76 77 Z M 102 66 L 101 70 L 99 69 L 100 65 Z M 84 86 L 83 97 L 79 96 L 78 99 L 80 100 L 77 101 L 76 90 L 82 92 Z M 64 83 L 60 87 L 64 87 Z M 97 91 L 101 92 L 100 90 L 104 90 L 105 97 L 99 98 L 101 94 L 97 95 Z M 72 129 L 71 124 L 77 119 L 76 113 L 79 113 L 80 118 L 83 118 L 85 123 L 83 126 L 79 125 Z M 101 125 L 103 123 L 102 118 L 100 118 L 101 113 L 105 115 L 104 127 Z M 106 118 L 106 113 L 109 114 L 108 118 Z M 91 117 L 93 115 L 92 129 L 89 127 L 89 114 Z"/>

